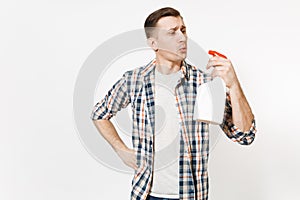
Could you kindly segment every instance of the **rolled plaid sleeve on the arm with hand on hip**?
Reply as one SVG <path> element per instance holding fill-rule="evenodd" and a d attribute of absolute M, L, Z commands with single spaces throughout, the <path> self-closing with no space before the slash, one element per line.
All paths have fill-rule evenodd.
<path fill-rule="evenodd" d="M 130 103 L 127 83 L 127 74 L 125 73 L 123 77 L 112 86 L 105 97 L 94 106 L 90 118 L 92 120 L 109 120 L 122 108 L 127 107 Z"/>

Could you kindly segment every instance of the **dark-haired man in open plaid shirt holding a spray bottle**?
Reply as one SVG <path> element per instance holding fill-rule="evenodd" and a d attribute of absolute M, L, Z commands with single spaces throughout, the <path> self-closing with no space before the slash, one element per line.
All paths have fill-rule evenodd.
<path fill-rule="evenodd" d="M 125 72 L 95 105 L 91 118 L 122 161 L 134 169 L 132 200 L 208 199 L 209 124 L 193 119 L 197 88 L 217 76 L 224 80 L 229 91 L 220 126 L 233 141 L 242 145 L 252 143 L 256 133 L 254 116 L 230 60 L 212 57 L 207 64 L 207 68 L 214 68 L 211 75 L 185 62 L 187 33 L 177 10 L 166 7 L 153 12 L 144 28 L 156 58 Z M 159 84 L 170 89 L 172 102 L 164 101 L 166 94 L 159 92 Z M 158 101 L 168 113 L 166 121 L 172 123 L 160 135 L 159 110 L 155 106 Z M 109 121 L 128 104 L 132 107 L 133 149 L 123 143 Z M 170 140 L 177 145 L 178 160 L 158 169 L 162 151 L 157 149 L 163 149 Z"/>

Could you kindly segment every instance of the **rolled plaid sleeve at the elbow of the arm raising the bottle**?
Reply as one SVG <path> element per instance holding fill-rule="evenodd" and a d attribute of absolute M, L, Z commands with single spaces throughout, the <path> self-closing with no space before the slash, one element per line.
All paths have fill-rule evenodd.
<path fill-rule="evenodd" d="M 249 145 L 253 142 L 256 134 L 255 119 L 252 120 L 252 125 L 248 131 L 242 132 L 232 122 L 232 107 L 230 102 L 229 93 L 226 92 L 226 103 L 223 123 L 220 125 L 224 133 L 234 142 L 238 142 L 241 145 Z"/>

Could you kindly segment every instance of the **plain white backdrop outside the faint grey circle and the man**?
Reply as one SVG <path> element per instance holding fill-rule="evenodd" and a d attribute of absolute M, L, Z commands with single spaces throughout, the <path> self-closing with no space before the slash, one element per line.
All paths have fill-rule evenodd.
<path fill-rule="evenodd" d="M 222 136 L 210 199 L 299 199 L 300 3 L 29 0 L 0 3 L 0 199 L 129 199 L 132 176 L 97 162 L 76 133 L 72 97 L 88 55 L 177 8 L 189 37 L 233 62 L 256 115 L 255 142 Z"/>

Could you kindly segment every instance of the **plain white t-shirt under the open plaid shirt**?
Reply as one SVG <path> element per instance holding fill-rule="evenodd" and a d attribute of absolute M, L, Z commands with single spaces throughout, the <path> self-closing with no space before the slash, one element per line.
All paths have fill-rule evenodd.
<path fill-rule="evenodd" d="M 179 198 L 179 115 L 175 87 L 181 70 L 161 74 L 155 68 L 155 136 L 153 181 L 150 195 Z"/>

